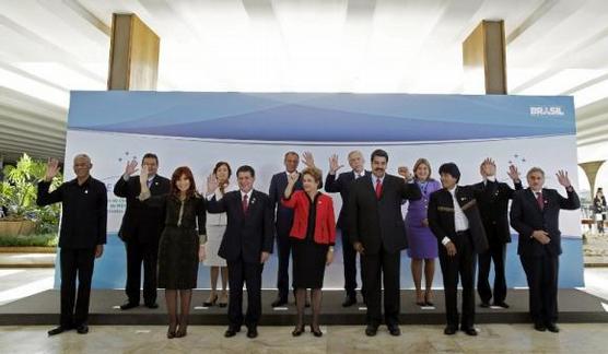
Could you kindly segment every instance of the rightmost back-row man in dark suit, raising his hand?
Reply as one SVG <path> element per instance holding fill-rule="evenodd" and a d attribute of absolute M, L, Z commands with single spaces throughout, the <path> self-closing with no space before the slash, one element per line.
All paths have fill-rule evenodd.
<path fill-rule="evenodd" d="M 506 298 L 505 255 L 506 244 L 511 243 L 511 228 L 508 227 L 508 200 L 513 199 L 515 190 L 522 189 L 517 167 L 508 167 L 508 177 L 513 180 L 515 190 L 505 182 L 496 180 L 496 164 L 491 158 L 486 158 L 479 166 L 483 181 L 473 185 L 478 209 L 483 222 L 483 229 L 488 238 L 489 248 L 479 255 L 479 273 L 477 275 L 477 292 L 481 298 L 481 307 L 493 305 L 508 308 Z M 494 262 L 494 294 L 490 287 L 490 263 Z"/>

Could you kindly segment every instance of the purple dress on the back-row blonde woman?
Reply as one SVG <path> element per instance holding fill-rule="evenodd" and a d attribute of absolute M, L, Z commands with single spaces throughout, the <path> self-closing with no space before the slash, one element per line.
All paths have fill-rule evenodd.
<path fill-rule="evenodd" d="M 406 214 L 406 229 L 408 236 L 408 256 L 410 258 L 437 258 L 437 238 L 429 226 L 423 226 L 422 221 L 426 219 L 429 198 L 435 190 L 441 189 L 437 180 L 429 179 L 425 182 L 416 181 L 422 198 L 410 200 L 408 213 Z"/>

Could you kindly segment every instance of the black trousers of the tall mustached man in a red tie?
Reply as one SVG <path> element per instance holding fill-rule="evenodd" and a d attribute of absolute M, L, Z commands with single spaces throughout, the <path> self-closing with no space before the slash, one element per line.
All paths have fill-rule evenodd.
<path fill-rule="evenodd" d="M 401 252 L 387 252 L 384 248 L 376 255 L 361 256 L 363 296 L 367 306 L 367 324 L 382 322 L 382 283 L 384 281 L 384 320 L 387 326 L 399 324 Z"/>

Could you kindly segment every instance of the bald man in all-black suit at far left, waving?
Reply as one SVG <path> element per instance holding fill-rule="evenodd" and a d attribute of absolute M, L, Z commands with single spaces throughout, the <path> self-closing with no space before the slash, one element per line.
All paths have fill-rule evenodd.
<path fill-rule="evenodd" d="M 48 331 L 48 335 L 74 328 L 80 334 L 89 333 L 86 320 L 93 266 L 95 258 L 102 257 L 106 243 L 106 186 L 91 177 L 93 164 L 87 155 L 77 155 L 73 167 L 75 178 L 49 192 L 50 181 L 59 172 L 59 162 L 51 158 L 44 180 L 38 184 L 36 204 L 43 206 L 61 202 L 62 206 L 59 232 L 61 322 L 59 327 Z"/>

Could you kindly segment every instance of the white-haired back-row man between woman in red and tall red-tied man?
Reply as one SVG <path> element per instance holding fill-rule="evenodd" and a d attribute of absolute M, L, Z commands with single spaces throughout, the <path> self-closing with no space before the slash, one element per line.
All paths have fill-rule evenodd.
<path fill-rule="evenodd" d="M 364 168 L 365 161 L 363 154 L 355 150 L 349 153 L 350 172 L 342 173 L 336 178 L 338 169 L 343 167 L 338 163 L 338 155 L 332 155 L 329 158 L 329 173 L 325 179 L 325 191 L 328 193 L 340 193 L 342 197 L 342 208 L 340 209 L 340 216 L 338 216 L 337 227 L 342 235 L 342 258 L 344 260 L 344 291 L 347 297 L 342 303 L 343 307 L 349 307 L 356 304 L 356 251 L 352 247 L 349 238 L 348 229 L 348 204 L 349 193 L 352 182 L 359 177 L 371 178 L 371 173 Z M 363 290 L 361 291 L 363 293 Z"/>

